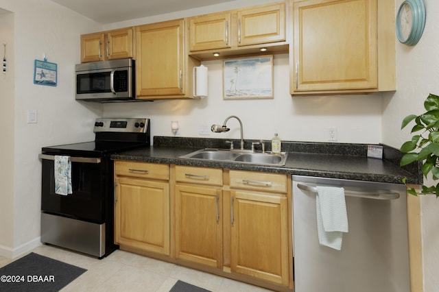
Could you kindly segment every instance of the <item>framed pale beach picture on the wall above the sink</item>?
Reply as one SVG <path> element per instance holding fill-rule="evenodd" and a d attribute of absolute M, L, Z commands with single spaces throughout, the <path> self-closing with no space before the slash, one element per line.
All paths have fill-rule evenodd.
<path fill-rule="evenodd" d="M 224 99 L 273 98 L 273 56 L 224 60 Z"/>

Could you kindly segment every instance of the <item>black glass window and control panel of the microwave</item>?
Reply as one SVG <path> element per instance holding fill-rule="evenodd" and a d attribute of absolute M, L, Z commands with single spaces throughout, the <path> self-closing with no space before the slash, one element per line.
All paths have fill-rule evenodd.
<path fill-rule="evenodd" d="M 113 89 L 116 93 L 128 91 L 128 70 L 114 72 Z M 76 75 L 76 93 L 111 93 L 111 71 Z"/>

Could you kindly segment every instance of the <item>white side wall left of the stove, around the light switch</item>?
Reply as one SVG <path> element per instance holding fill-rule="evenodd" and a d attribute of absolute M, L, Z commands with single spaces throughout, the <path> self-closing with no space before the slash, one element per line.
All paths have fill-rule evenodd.
<path fill-rule="evenodd" d="M 94 138 L 90 129 L 102 106 L 74 100 L 73 71 L 80 62 L 80 34 L 102 26 L 48 0 L 0 0 L 0 8 L 11 12 L 0 16 L 0 42 L 13 40 L 6 76 L 12 85 L 0 82 L 0 121 L 8 131 L 6 146 L 1 143 L 2 173 L 10 171 L 0 175 L 0 255 L 13 257 L 40 244 L 41 147 Z M 56 87 L 33 84 L 34 60 L 44 54 L 58 64 Z M 27 123 L 29 109 L 38 110 L 38 123 Z"/>

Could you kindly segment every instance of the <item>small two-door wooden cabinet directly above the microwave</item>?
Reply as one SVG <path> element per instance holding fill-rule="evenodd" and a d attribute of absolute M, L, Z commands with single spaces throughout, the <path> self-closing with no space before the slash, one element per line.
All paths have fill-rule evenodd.
<path fill-rule="evenodd" d="M 133 28 L 81 35 L 81 62 L 134 58 Z"/>

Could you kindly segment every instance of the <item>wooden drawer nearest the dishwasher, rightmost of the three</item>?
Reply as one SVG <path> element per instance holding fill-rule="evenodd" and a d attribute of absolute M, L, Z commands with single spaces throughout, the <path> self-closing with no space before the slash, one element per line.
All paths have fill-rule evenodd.
<path fill-rule="evenodd" d="M 287 175 L 230 170 L 230 187 L 287 193 Z"/>

